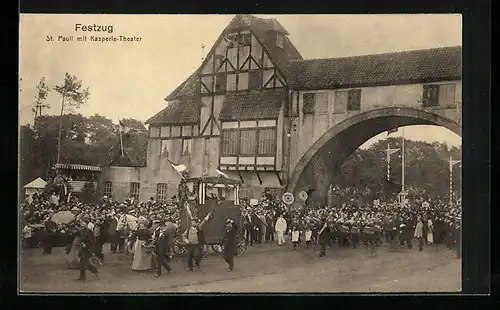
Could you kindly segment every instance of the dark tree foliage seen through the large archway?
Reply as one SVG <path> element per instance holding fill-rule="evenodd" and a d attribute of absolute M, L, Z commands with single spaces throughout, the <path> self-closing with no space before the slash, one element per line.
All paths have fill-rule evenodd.
<path fill-rule="evenodd" d="M 382 191 L 387 176 L 387 143 L 401 149 L 400 138 L 380 140 L 368 149 L 358 149 L 343 163 L 333 184 L 341 187 L 368 187 L 372 192 Z M 426 143 L 405 140 L 405 186 L 444 196 L 449 192 L 449 157 L 461 159 L 461 147 L 448 147 L 444 143 Z M 401 184 L 401 151 L 391 155 L 390 179 Z M 459 191 L 460 166 L 453 168 L 453 186 Z"/>

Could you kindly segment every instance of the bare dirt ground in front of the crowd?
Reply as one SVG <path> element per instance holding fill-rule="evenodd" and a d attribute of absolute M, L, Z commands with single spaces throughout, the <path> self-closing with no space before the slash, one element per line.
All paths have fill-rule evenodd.
<path fill-rule="evenodd" d="M 109 249 L 109 246 L 106 247 Z M 109 250 L 108 250 L 109 251 Z M 21 292 L 457 292 L 461 290 L 461 260 L 443 246 L 423 252 L 414 247 L 389 252 L 368 249 L 317 249 L 262 244 L 249 247 L 228 272 L 220 254 L 202 261 L 201 272 L 187 272 L 185 258 L 172 262 L 170 275 L 131 270 L 132 258 L 105 253 L 99 279 L 75 281 L 78 270 L 64 268 L 62 248 L 51 256 L 27 250 L 21 259 Z"/>

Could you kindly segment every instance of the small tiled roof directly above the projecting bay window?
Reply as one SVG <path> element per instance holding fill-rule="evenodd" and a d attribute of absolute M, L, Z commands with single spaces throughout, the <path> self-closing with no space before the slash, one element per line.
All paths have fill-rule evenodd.
<path fill-rule="evenodd" d="M 255 91 L 227 94 L 219 119 L 254 120 L 278 118 L 281 106 L 286 100 L 286 91 Z"/>

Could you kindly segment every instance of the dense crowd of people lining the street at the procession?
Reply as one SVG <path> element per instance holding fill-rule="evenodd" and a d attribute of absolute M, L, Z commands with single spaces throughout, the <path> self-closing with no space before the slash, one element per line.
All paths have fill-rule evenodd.
<path fill-rule="evenodd" d="M 364 190 L 336 190 L 346 201 L 368 195 Z M 333 244 L 374 248 L 387 242 L 391 249 L 398 245 L 412 248 L 412 239 L 416 238 L 420 251 L 425 244 L 445 243 L 460 256 L 460 199 L 450 204 L 423 194 L 409 197 L 405 206 L 393 199 L 365 204 L 329 202 L 319 207 L 304 204 L 297 208 L 286 206 L 269 192 L 257 203 L 241 199 L 241 217 L 226 221 L 224 258 L 232 270 L 237 235 L 249 246 L 272 243 L 275 238 L 279 246 L 289 239 L 294 248 L 317 243 L 321 256 Z M 209 213 L 204 219 L 193 217 L 187 229 L 180 231 L 182 206 L 175 197 L 166 203 L 153 198 L 146 202 L 133 198 L 114 202 L 105 196 L 99 204 L 84 204 L 77 197 L 59 202 L 55 193 L 32 198 L 31 204 L 21 206 L 24 246 L 36 246 L 38 242 L 30 239 L 33 229 L 39 228 L 43 253 L 50 255 L 54 245 L 64 245 L 68 267 L 80 269 L 79 279 L 85 279 L 85 270 L 98 273 L 98 264 L 104 261 L 103 246 L 108 242 L 112 253 L 133 255 L 133 270 L 155 270 L 160 276 L 162 269 L 170 272 L 173 240 L 180 237 L 187 249 L 188 270 L 199 268 L 205 243 L 203 226 L 213 216 Z M 66 221 L 55 221 L 55 215 L 61 212 L 71 216 Z M 56 236 L 60 242 L 55 242 Z M 99 260 L 91 263 L 94 257 Z"/>

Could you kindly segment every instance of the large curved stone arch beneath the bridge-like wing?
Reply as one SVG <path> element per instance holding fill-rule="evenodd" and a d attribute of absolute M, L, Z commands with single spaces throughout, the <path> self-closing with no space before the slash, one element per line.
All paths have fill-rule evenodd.
<path fill-rule="evenodd" d="M 315 188 L 324 195 L 329 175 L 364 142 L 384 131 L 409 125 L 437 125 L 461 136 L 461 125 L 431 111 L 391 107 L 352 116 L 323 134 L 302 156 L 290 175 L 287 190 L 292 193 Z"/>

